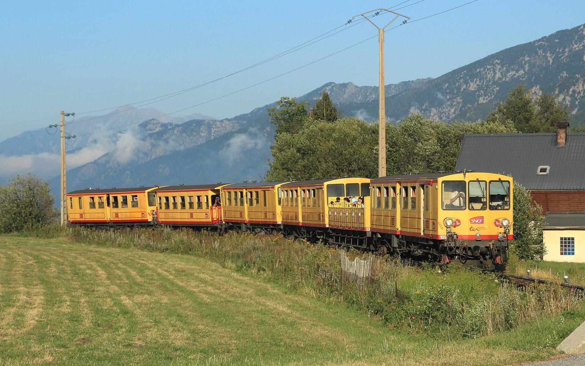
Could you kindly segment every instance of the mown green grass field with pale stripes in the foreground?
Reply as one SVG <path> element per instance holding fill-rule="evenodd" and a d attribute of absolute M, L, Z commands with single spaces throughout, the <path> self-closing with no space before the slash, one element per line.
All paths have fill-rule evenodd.
<path fill-rule="evenodd" d="M 193 255 L 0 236 L 1 365 L 501 365 L 579 323 L 449 341 Z"/>

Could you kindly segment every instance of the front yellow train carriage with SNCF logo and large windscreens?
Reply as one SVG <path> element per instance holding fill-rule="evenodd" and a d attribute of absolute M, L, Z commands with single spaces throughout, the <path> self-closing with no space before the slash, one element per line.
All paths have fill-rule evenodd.
<path fill-rule="evenodd" d="M 432 261 L 502 264 L 512 186 L 511 177 L 477 172 L 372 179 L 374 246 Z"/>

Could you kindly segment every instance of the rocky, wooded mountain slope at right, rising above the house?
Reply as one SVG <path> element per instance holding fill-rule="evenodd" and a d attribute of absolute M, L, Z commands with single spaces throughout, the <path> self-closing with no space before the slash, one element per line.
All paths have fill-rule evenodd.
<path fill-rule="evenodd" d="M 483 119 L 510 88 L 525 83 L 535 96 L 558 95 L 582 122 L 585 94 L 585 26 L 560 30 L 534 42 L 491 54 L 386 98 L 389 121 L 412 113 L 439 121 Z M 349 103 L 346 112 L 377 114 L 378 102 Z"/>

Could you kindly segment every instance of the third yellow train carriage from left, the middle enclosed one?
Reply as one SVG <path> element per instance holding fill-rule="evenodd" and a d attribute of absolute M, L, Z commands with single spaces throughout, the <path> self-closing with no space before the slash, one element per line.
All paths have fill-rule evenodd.
<path fill-rule="evenodd" d="M 281 185 L 285 182 L 242 182 L 222 187 L 223 220 L 231 228 L 281 228 Z"/>

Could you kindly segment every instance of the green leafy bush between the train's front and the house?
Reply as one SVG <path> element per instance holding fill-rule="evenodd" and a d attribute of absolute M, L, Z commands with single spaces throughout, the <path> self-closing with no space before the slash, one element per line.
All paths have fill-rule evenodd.
<path fill-rule="evenodd" d="M 542 241 L 542 207 L 532 202 L 530 192 L 517 182 L 514 182 L 513 196 L 514 240 L 510 242 L 511 250 L 520 259 L 542 259 L 546 253 Z"/>

